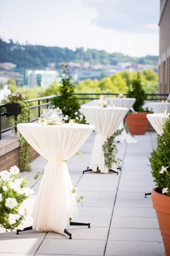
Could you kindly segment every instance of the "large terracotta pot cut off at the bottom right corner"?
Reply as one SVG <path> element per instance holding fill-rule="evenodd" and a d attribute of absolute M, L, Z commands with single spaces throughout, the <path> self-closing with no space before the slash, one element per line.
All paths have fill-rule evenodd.
<path fill-rule="evenodd" d="M 159 229 L 163 239 L 166 256 L 170 256 L 170 197 L 158 193 L 158 188 L 152 189 L 153 208 L 156 210 Z"/>

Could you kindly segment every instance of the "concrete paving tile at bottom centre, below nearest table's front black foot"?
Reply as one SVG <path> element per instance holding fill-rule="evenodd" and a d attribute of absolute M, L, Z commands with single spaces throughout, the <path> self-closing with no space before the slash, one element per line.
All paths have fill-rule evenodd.
<path fill-rule="evenodd" d="M 104 240 L 66 240 L 45 238 L 39 247 L 37 254 L 73 254 L 73 255 L 103 255 L 105 249 Z"/>

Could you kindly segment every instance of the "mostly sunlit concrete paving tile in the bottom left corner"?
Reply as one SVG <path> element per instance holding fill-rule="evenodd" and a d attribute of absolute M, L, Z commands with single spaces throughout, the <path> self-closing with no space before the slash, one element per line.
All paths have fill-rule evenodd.
<path fill-rule="evenodd" d="M 1 253 L 35 253 L 43 239 L 38 238 L 1 238 Z"/>

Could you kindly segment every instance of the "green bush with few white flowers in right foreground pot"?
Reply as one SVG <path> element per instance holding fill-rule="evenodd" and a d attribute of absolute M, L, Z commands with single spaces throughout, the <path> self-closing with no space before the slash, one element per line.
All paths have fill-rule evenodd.
<path fill-rule="evenodd" d="M 163 133 L 157 135 L 157 148 L 149 158 L 151 173 L 160 193 L 170 196 L 170 118 L 163 125 Z"/>

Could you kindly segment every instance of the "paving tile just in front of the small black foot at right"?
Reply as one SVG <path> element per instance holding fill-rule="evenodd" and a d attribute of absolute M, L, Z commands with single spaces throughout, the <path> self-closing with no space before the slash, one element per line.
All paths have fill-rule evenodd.
<path fill-rule="evenodd" d="M 115 207 L 152 207 L 151 200 L 143 199 L 117 199 Z"/>

